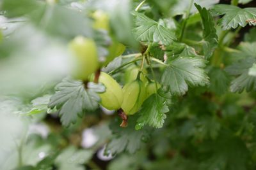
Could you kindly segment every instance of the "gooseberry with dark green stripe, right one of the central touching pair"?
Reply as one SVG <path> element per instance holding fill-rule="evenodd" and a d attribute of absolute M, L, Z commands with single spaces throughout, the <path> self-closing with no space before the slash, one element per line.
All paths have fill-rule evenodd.
<path fill-rule="evenodd" d="M 136 113 L 147 97 L 145 83 L 141 80 L 135 80 L 125 85 L 123 93 L 124 101 L 121 108 L 126 115 L 133 115 Z"/>

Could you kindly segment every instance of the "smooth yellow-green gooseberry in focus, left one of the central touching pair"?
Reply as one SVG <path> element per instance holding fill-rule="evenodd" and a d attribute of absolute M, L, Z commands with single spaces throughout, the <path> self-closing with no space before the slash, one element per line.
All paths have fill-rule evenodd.
<path fill-rule="evenodd" d="M 92 79 L 94 76 L 92 76 Z M 99 82 L 104 84 L 106 91 L 99 93 L 100 104 L 108 110 L 118 110 L 123 103 L 123 91 L 120 85 L 109 74 L 100 72 Z"/>

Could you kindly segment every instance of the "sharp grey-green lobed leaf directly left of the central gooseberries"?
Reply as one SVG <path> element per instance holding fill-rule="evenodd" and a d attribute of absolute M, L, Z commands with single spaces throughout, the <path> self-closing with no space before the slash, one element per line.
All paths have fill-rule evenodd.
<path fill-rule="evenodd" d="M 56 86 L 56 93 L 51 97 L 49 108 L 60 110 L 61 123 L 65 126 L 76 123 L 77 117 L 84 111 L 93 111 L 98 108 L 100 97 L 97 92 L 104 92 L 103 85 L 88 83 L 84 89 L 81 81 L 65 78 Z"/>

